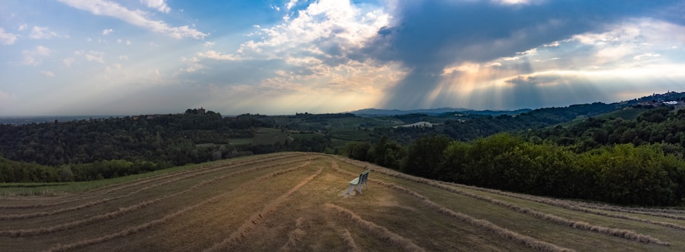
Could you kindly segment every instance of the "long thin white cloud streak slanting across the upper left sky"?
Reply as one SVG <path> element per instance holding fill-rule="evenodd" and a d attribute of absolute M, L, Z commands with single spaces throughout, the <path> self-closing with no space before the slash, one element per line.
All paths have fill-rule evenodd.
<path fill-rule="evenodd" d="M 127 8 L 106 0 L 59 0 L 66 5 L 79 10 L 88 11 L 94 15 L 111 16 L 119 18 L 126 23 L 148 29 L 157 33 L 164 33 L 172 38 L 195 38 L 202 39 L 208 34 L 192 29 L 188 25 L 171 27 L 169 24 L 160 20 L 151 20 L 147 12 L 141 10 L 128 10 Z"/>

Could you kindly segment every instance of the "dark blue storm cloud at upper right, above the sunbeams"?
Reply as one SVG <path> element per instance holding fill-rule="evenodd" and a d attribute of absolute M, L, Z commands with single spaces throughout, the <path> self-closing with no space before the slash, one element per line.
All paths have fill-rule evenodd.
<path fill-rule="evenodd" d="M 659 18 L 654 15 L 682 6 L 672 1 L 401 3 L 395 14 L 397 23 L 379 31 L 377 40 L 366 46 L 366 53 L 373 57 L 399 61 L 411 69 L 406 79 L 387 91 L 384 104 L 379 105 L 384 108 L 416 108 L 438 87 L 439 74 L 446 66 L 512 57 L 575 34 L 601 31 L 624 18 Z"/>

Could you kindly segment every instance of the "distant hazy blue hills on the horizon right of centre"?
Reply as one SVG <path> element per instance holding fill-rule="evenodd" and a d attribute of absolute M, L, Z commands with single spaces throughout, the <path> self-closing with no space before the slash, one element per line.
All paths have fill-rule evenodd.
<path fill-rule="evenodd" d="M 388 115 L 409 115 L 409 114 L 425 114 L 425 115 L 443 115 L 445 113 L 462 113 L 462 114 L 473 114 L 473 115 L 518 115 L 520 113 L 525 113 L 532 111 L 532 109 L 518 109 L 514 111 L 502 110 L 502 111 L 492 111 L 492 110 L 473 110 L 473 109 L 463 109 L 463 108 L 438 108 L 438 109 L 412 109 L 412 110 L 399 110 L 399 109 L 360 109 L 358 111 L 352 111 L 355 115 L 362 117 L 373 117 L 373 116 L 388 116 Z"/>

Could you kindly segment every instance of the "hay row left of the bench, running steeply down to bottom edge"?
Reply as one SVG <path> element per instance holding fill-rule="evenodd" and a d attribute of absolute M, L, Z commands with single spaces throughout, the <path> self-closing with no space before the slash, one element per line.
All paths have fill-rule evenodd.
<path fill-rule="evenodd" d="M 233 244 L 240 242 L 242 238 L 245 238 L 247 234 L 256 227 L 257 223 L 260 223 L 266 215 L 268 215 L 271 212 L 274 212 L 277 210 L 278 206 L 282 204 L 292 193 L 295 193 L 297 189 L 300 187 L 304 186 L 305 184 L 309 183 L 310 181 L 314 180 L 316 176 L 319 176 L 321 174 L 321 171 L 323 171 L 323 167 L 319 169 L 319 171 L 316 171 L 314 175 L 309 176 L 308 178 L 303 179 L 299 184 L 297 184 L 295 187 L 290 188 L 290 190 L 283 195 L 280 195 L 273 201 L 269 202 L 269 204 L 266 204 L 262 210 L 259 212 L 256 212 L 252 214 L 245 222 L 236 229 L 228 238 L 224 239 L 223 241 L 214 244 L 212 247 L 209 249 L 206 249 L 205 251 L 223 251 L 226 247 L 231 247 Z"/>

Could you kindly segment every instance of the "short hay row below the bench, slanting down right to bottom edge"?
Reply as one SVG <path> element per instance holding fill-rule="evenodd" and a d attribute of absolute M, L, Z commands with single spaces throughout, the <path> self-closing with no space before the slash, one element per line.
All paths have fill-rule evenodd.
<path fill-rule="evenodd" d="M 355 214 L 351 210 L 347 210 L 341 206 L 336 206 L 334 204 L 330 203 L 325 203 L 323 204 L 324 208 L 327 210 L 334 210 L 337 214 L 340 216 L 343 216 L 350 221 L 353 221 L 356 225 L 361 227 L 362 229 L 368 231 L 371 233 L 373 236 L 377 236 L 381 238 L 382 240 L 388 240 L 391 244 L 395 245 L 396 247 L 399 247 L 405 251 L 425 251 L 422 247 L 419 247 L 419 245 L 416 245 L 412 240 L 408 238 L 404 238 L 403 236 L 400 236 L 399 234 L 395 234 L 388 230 L 386 227 L 383 227 L 381 225 L 377 225 L 376 223 L 373 223 L 371 221 L 366 221 L 362 219 L 359 215 Z M 347 232 L 349 234 L 349 232 Z M 349 236 L 351 238 L 351 235 Z M 352 241 L 353 242 L 353 241 Z M 356 247 L 356 245 L 355 245 Z M 358 248 L 357 248 L 358 249 Z"/>

